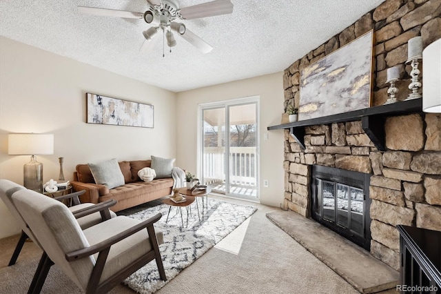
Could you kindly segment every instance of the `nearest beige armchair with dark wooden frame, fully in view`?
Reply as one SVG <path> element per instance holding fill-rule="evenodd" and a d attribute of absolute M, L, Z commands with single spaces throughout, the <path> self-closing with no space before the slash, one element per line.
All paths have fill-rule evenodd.
<path fill-rule="evenodd" d="M 30 293 L 39 293 L 52 264 L 57 264 L 86 293 L 105 293 L 139 268 L 156 260 L 167 280 L 158 242 L 163 233 L 153 224 L 161 213 L 143 222 L 118 216 L 84 231 L 72 211 L 32 190 L 17 190 L 12 201 L 43 248 Z"/>

